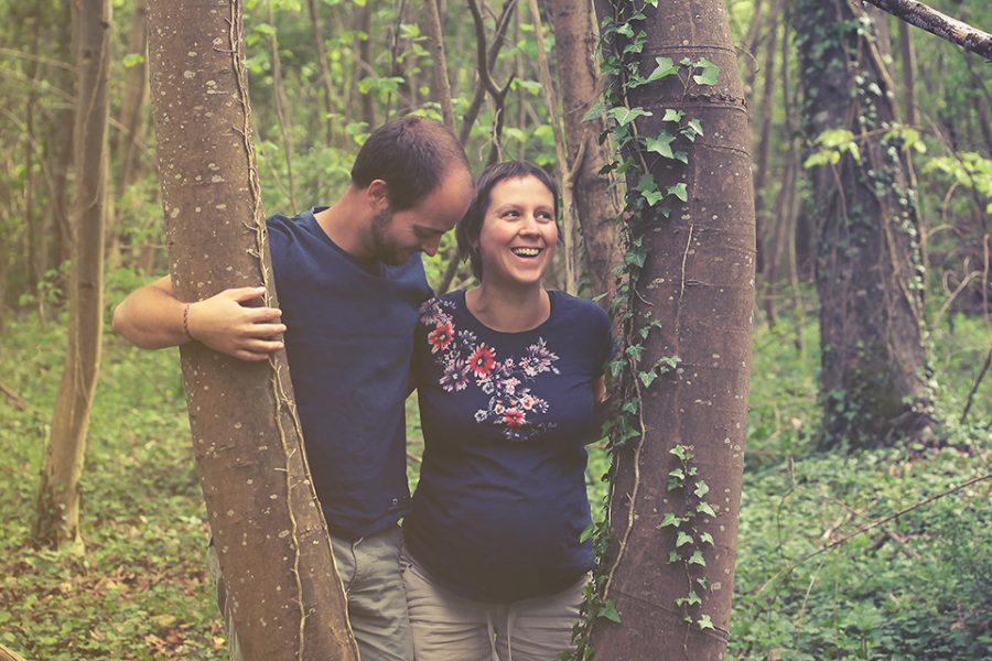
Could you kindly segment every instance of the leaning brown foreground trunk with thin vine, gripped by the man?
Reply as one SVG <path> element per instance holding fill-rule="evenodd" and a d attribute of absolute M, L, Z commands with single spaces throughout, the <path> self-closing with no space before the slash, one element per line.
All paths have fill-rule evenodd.
<path fill-rule="evenodd" d="M 265 284 L 240 3 L 151 0 L 149 71 L 172 282 L 182 301 Z M 245 659 L 357 660 L 284 353 L 182 348 L 193 449 Z"/>

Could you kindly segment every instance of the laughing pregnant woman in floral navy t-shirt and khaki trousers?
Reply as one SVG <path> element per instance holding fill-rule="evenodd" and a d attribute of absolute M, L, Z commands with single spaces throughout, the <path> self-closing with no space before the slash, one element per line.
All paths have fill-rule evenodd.
<path fill-rule="evenodd" d="M 547 291 L 558 191 L 540 167 L 487 167 L 456 230 L 479 281 L 421 307 L 424 436 L 405 522 L 418 661 L 552 660 L 593 566 L 585 444 L 613 349 L 595 304 Z"/>

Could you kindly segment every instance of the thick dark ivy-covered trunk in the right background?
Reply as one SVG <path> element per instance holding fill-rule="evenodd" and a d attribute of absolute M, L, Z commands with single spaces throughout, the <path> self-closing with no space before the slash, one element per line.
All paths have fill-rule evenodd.
<path fill-rule="evenodd" d="M 923 278 L 914 192 L 892 132 L 892 80 L 870 17 L 847 0 L 791 12 L 818 221 L 820 392 L 826 446 L 928 429 Z M 815 209 L 815 210 L 813 210 Z"/>

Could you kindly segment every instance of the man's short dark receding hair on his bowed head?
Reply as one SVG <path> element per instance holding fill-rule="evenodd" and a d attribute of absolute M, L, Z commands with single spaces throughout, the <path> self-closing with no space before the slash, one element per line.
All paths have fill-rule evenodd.
<path fill-rule="evenodd" d="M 459 164 L 468 171 L 465 150 L 448 127 L 408 115 L 371 132 L 358 150 L 352 183 L 367 188 L 373 180 L 382 180 L 389 186 L 389 206 L 401 212 L 427 197 Z"/>

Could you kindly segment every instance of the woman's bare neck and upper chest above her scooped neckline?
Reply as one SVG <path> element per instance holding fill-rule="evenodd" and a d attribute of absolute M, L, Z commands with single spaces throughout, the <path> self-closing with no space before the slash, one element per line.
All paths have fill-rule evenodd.
<path fill-rule="evenodd" d="M 475 318 L 502 333 L 530 330 L 551 316 L 551 299 L 540 284 L 515 289 L 483 280 L 465 292 L 465 305 Z"/>

